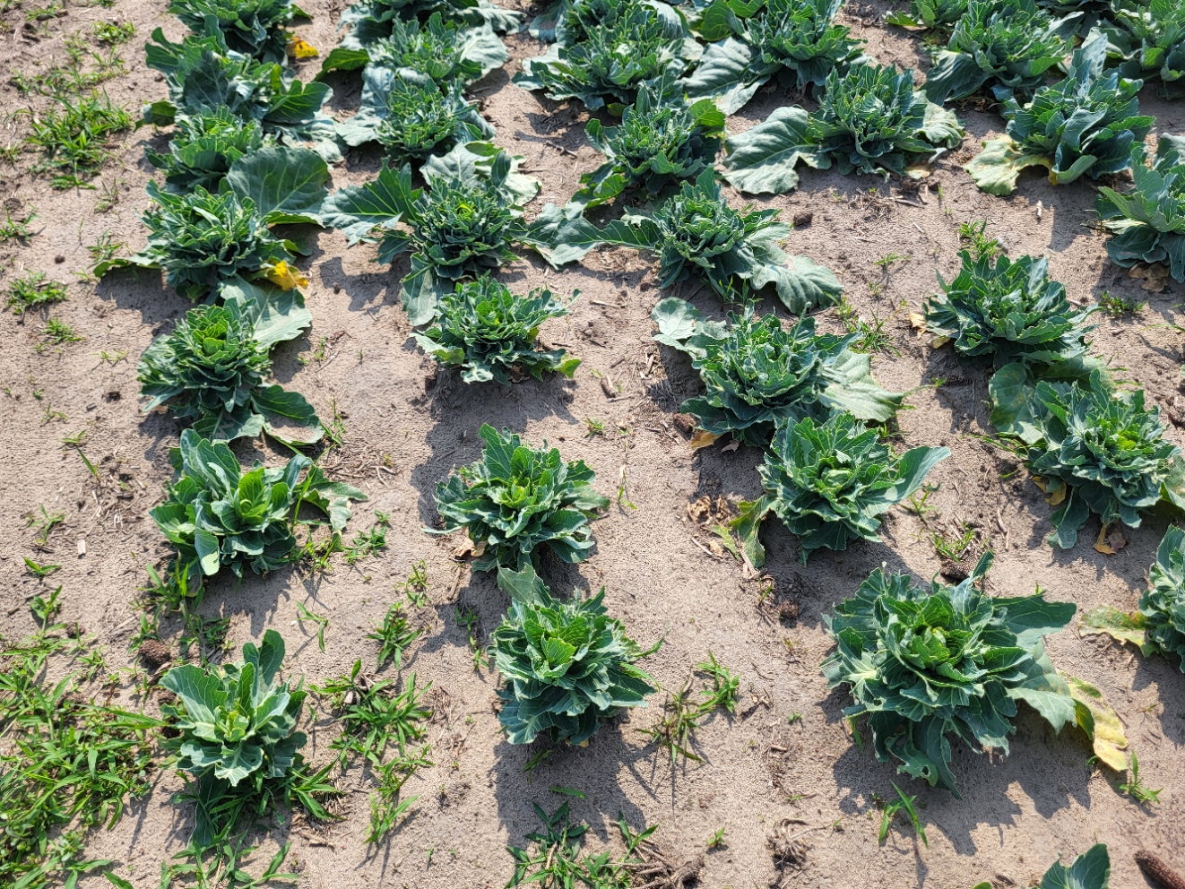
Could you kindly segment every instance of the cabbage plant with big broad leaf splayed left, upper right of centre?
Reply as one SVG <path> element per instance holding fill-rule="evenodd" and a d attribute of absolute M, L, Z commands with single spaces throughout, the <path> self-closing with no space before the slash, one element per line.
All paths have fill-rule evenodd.
<path fill-rule="evenodd" d="M 962 143 L 954 111 L 914 89 L 914 72 L 857 65 L 827 75 L 819 110 L 779 108 L 724 143 L 724 178 L 745 192 L 777 193 L 798 186 L 795 167 L 845 175 L 917 175 L 912 167 Z"/>

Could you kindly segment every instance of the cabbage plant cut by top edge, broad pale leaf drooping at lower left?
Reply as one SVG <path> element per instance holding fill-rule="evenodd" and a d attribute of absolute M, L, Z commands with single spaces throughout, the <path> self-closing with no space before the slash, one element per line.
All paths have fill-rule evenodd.
<path fill-rule="evenodd" d="M 834 21 L 843 5 L 844 0 L 764 0 L 754 9 L 737 4 L 728 6 L 724 24 L 718 18 L 710 24 L 705 14 L 702 34 L 715 43 L 683 79 L 684 89 L 692 98 L 715 100 L 724 114 L 736 114 L 774 78 L 799 91 L 821 87 L 830 71 L 844 72 L 867 60 L 864 41 L 853 40 L 851 28 Z"/>

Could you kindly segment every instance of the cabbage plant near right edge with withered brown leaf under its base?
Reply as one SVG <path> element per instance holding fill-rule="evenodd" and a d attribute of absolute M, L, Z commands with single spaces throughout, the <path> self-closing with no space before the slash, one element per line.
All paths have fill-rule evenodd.
<path fill-rule="evenodd" d="M 1144 407 L 1144 390 L 1120 391 L 1101 370 L 1085 382 L 1035 385 L 1020 364 L 997 371 L 988 388 L 992 423 L 1018 442 L 1025 466 L 1057 507 L 1051 544 L 1074 546 L 1095 513 L 1102 545 L 1115 522 L 1139 527 L 1140 512 L 1161 497 L 1180 499 L 1166 484 L 1179 449 L 1164 437 L 1160 409 Z"/>

